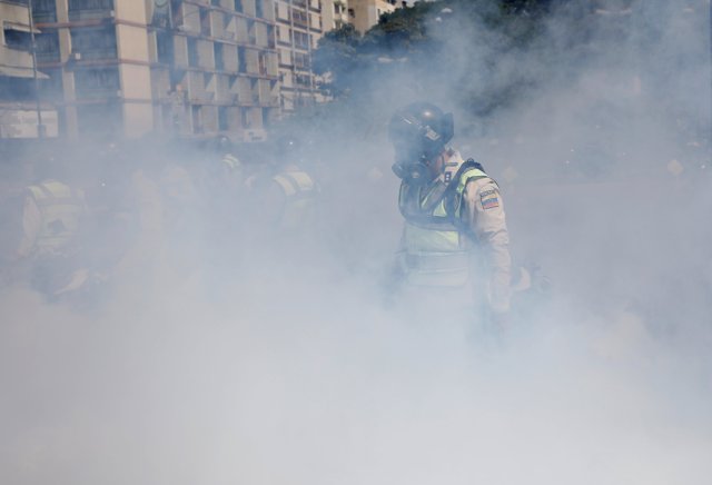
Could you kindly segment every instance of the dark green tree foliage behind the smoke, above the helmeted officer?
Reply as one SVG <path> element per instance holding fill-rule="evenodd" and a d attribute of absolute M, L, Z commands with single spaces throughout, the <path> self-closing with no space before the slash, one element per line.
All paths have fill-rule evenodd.
<path fill-rule="evenodd" d="M 456 101 L 486 112 L 501 106 L 518 87 L 533 82 L 495 76 L 498 59 L 534 43 L 552 0 L 441 0 L 416 2 L 382 16 L 377 26 L 359 36 L 352 26 L 328 32 L 314 57 L 324 90 L 338 99 L 364 102 L 374 87 L 389 87 L 395 79 L 415 91 L 433 88 L 455 95 Z M 463 69 L 464 53 L 478 62 L 476 72 Z M 453 72 L 453 67 L 456 71 Z M 402 75 L 400 78 L 398 75 Z M 478 82 L 473 82 L 477 79 Z"/>

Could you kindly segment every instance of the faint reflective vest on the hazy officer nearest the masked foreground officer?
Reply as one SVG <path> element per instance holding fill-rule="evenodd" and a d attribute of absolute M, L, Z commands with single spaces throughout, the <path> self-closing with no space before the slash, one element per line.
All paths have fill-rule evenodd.
<path fill-rule="evenodd" d="M 274 176 L 273 180 L 286 197 L 279 229 L 295 230 L 310 224 L 315 217 L 318 192 L 314 179 L 301 170 L 285 170 Z"/>

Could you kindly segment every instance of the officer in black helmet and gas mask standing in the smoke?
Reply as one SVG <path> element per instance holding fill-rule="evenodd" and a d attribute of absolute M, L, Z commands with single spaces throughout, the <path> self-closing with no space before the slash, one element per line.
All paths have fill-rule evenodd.
<path fill-rule="evenodd" d="M 512 265 L 502 196 L 482 165 L 446 146 L 453 136 L 452 113 L 427 102 L 388 125 L 405 219 L 389 299 L 417 306 L 421 318 L 463 316 L 501 329 Z"/>

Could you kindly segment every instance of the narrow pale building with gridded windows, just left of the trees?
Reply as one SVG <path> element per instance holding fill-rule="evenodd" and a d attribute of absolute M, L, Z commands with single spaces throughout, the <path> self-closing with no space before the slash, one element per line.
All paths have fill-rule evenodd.
<path fill-rule="evenodd" d="M 324 101 L 312 71 L 312 53 L 324 34 L 320 0 L 276 0 L 280 106 L 285 112 Z"/>

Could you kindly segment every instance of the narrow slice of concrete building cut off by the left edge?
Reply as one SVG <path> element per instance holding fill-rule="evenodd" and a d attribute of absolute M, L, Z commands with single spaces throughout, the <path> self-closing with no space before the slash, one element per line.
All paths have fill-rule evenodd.
<path fill-rule="evenodd" d="M 37 71 L 27 1 L 0 0 L 0 138 L 57 136 L 57 112 L 38 98 L 48 76 Z"/>

